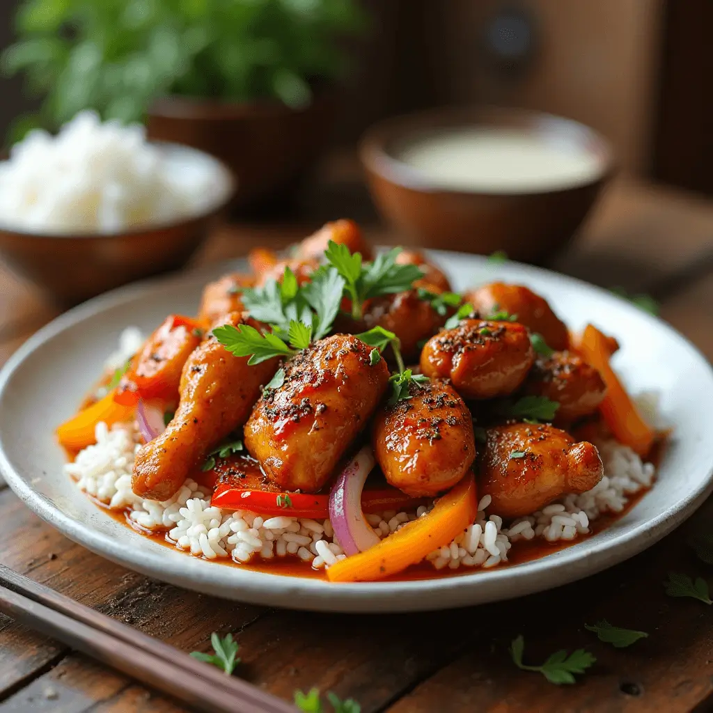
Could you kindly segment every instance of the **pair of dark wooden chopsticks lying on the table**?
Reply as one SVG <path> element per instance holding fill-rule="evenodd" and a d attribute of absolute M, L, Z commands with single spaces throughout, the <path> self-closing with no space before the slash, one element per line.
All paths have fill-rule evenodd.
<path fill-rule="evenodd" d="M 0 612 L 193 709 L 294 713 L 291 704 L 0 565 Z"/>

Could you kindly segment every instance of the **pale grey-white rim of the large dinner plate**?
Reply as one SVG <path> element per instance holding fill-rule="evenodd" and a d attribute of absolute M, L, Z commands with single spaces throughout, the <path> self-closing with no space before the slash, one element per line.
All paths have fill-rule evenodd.
<path fill-rule="evenodd" d="M 486 258 L 483 256 L 443 250 L 429 250 L 427 252 L 436 261 L 440 257 L 441 260 L 465 259 L 474 266 L 487 264 Z M 0 407 L 11 377 L 24 361 L 49 339 L 81 323 L 83 319 L 91 317 L 104 309 L 111 309 L 125 302 L 130 302 L 140 297 L 143 293 L 152 292 L 173 282 L 183 283 L 194 279 L 207 279 L 222 270 L 230 270 L 233 266 L 244 264 L 244 260 L 225 261 L 188 272 L 177 272 L 173 275 L 134 282 L 111 290 L 111 292 L 106 292 L 59 315 L 29 337 L 0 369 Z M 713 366 L 689 339 L 677 332 L 670 324 L 651 315 L 642 314 L 640 309 L 634 305 L 622 303 L 619 297 L 615 297 L 605 289 L 578 278 L 513 261 L 511 261 L 511 265 L 517 267 L 518 270 L 524 270 L 525 273 L 531 272 L 546 279 L 554 278 L 555 281 L 563 280 L 573 284 L 575 287 L 586 287 L 588 290 L 594 290 L 600 297 L 616 299 L 620 307 L 631 309 L 638 317 L 650 320 L 652 326 L 667 332 L 667 337 L 683 342 L 700 362 L 700 365 L 707 369 L 713 383 Z M 131 570 L 168 581 L 181 588 L 240 600 L 241 602 L 344 613 L 438 610 L 488 601 L 506 600 L 562 586 L 610 568 L 642 552 L 677 528 L 713 493 L 712 461 L 702 466 L 702 478 L 696 488 L 688 491 L 677 503 L 665 508 L 654 517 L 633 526 L 625 533 L 617 535 L 615 540 L 597 542 L 595 538 L 590 538 L 579 543 L 579 545 L 585 545 L 585 548 L 575 544 L 563 550 L 558 550 L 553 555 L 530 560 L 512 567 L 495 568 L 487 573 L 478 571 L 426 580 L 329 583 L 326 580 L 315 578 L 299 578 L 256 570 L 240 570 L 239 567 L 230 565 L 214 566 L 212 570 L 215 571 L 212 571 L 208 570 L 208 566 L 218 563 L 192 558 L 186 553 L 180 553 L 175 550 L 168 551 L 172 555 L 177 555 L 180 560 L 175 557 L 163 557 L 158 550 L 153 551 L 151 548 L 125 548 L 113 540 L 110 535 L 95 530 L 91 523 L 73 520 L 69 515 L 56 508 L 46 496 L 37 493 L 32 488 L 31 483 L 26 481 L 15 470 L 5 451 L 1 434 L 0 473 L 4 475 L 14 493 L 36 515 L 39 515 L 39 517 L 74 542 Z M 80 491 L 77 490 L 76 493 L 78 496 L 86 498 L 86 495 Z M 101 512 L 101 508 L 96 507 L 97 511 Z M 111 517 L 111 515 L 104 514 L 106 517 Z M 132 533 L 132 535 L 137 538 L 142 537 L 140 533 Z M 132 553 L 138 554 L 132 556 Z M 548 564 L 548 561 L 552 562 L 551 558 L 554 555 L 557 555 L 557 560 L 552 565 Z M 184 558 L 186 560 L 185 563 L 183 563 Z M 220 576 L 221 572 L 226 571 L 230 572 L 230 575 L 226 575 L 225 578 Z M 189 580 L 185 580 L 187 573 Z M 508 579 L 516 580 L 516 585 L 513 586 L 511 595 L 503 596 L 500 593 L 497 596 L 491 596 L 489 594 L 492 590 L 498 589 L 503 580 Z M 474 588 L 482 590 L 481 596 L 478 596 L 473 591 Z M 339 593 L 335 596 L 337 592 Z M 445 596 L 446 593 L 448 594 L 447 596 Z M 428 594 L 428 601 L 420 602 L 419 596 L 424 594 Z M 442 600 L 438 596 L 441 594 L 444 595 Z M 309 599 L 310 597 L 311 601 L 302 601 L 303 598 Z M 393 600 L 396 598 L 399 599 L 398 605 L 393 604 Z M 289 600 L 287 604 L 285 602 L 286 599 Z M 391 604 L 389 603 L 390 600 Z"/>

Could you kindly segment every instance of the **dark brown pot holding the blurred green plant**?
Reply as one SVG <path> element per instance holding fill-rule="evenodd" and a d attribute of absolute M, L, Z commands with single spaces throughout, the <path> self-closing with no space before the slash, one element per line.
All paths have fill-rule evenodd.
<path fill-rule="evenodd" d="M 297 184 L 326 145 L 333 116 L 329 91 L 316 91 L 301 110 L 270 100 L 170 96 L 150 108 L 147 128 L 152 139 L 193 146 L 222 160 L 237 178 L 233 205 L 253 207 L 279 200 Z"/>

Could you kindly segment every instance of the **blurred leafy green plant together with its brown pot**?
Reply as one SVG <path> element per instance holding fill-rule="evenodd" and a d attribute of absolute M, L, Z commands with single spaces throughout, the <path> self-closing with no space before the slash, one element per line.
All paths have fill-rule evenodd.
<path fill-rule="evenodd" d="M 355 0 L 24 0 L 2 64 L 44 101 L 16 135 L 86 108 L 145 120 L 230 165 L 240 205 L 270 198 L 329 135 L 337 42 L 363 27 Z"/>

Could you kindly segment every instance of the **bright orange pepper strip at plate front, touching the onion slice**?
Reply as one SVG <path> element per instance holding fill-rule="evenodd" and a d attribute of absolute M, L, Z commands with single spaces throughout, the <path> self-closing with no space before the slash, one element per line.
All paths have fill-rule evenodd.
<path fill-rule="evenodd" d="M 440 498 L 434 509 L 406 523 L 378 545 L 339 560 L 327 570 L 330 582 L 371 582 L 421 562 L 456 538 L 478 514 L 476 481 L 472 473 Z"/>

